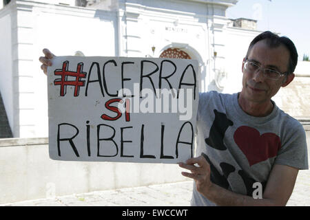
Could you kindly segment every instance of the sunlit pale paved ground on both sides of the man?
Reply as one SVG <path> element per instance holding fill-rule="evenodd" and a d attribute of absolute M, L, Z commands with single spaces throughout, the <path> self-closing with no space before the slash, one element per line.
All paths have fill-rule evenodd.
<path fill-rule="evenodd" d="M 310 206 L 310 170 L 300 170 L 287 206 Z M 189 206 L 192 181 L 36 199 L 0 206 Z"/>

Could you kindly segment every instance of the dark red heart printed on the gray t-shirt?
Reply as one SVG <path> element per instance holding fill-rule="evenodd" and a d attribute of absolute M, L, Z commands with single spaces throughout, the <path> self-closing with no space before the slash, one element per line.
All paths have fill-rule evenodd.
<path fill-rule="evenodd" d="M 234 140 L 245 154 L 249 165 L 275 157 L 280 150 L 280 137 L 275 133 L 263 133 L 250 126 L 240 126 L 234 133 Z"/>

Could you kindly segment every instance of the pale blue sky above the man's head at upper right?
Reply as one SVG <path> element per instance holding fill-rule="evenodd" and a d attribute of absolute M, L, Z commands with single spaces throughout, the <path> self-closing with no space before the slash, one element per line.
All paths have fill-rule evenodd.
<path fill-rule="evenodd" d="M 229 19 L 240 17 L 258 21 L 258 30 L 277 32 L 295 43 L 298 60 L 310 55 L 309 0 L 239 0 L 227 9 Z"/>

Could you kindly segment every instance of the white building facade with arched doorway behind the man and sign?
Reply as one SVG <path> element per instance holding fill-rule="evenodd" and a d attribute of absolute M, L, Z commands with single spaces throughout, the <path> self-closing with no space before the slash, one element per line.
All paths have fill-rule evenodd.
<path fill-rule="evenodd" d="M 234 93 L 260 33 L 256 21 L 226 17 L 237 0 L 57 2 L 12 0 L 0 10 L 0 93 L 13 137 L 48 136 L 43 48 L 59 56 L 192 58 L 200 91 Z"/>

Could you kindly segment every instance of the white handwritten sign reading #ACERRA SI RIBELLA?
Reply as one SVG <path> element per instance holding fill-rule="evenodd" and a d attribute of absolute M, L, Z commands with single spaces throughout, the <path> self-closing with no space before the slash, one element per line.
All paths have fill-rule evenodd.
<path fill-rule="evenodd" d="M 176 163 L 193 156 L 197 61 L 58 56 L 52 63 L 51 159 Z"/>

